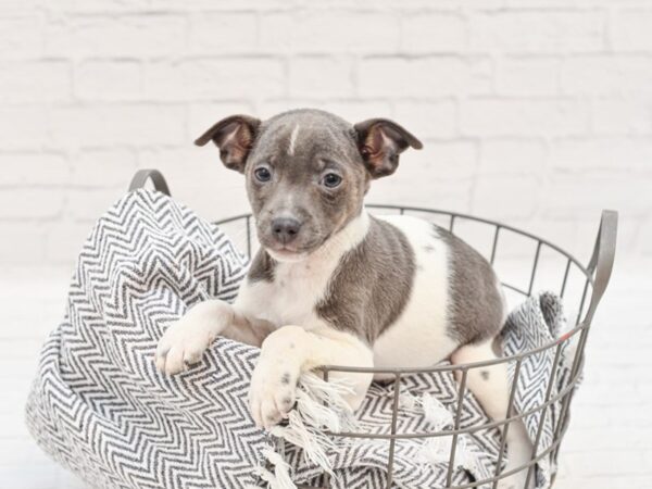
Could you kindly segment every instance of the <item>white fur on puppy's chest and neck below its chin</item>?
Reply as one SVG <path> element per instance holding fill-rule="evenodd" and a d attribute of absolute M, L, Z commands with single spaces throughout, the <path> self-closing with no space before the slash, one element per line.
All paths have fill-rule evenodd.
<path fill-rule="evenodd" d="M 366 211 L 353 218 L 323 246 L 308 255 L 271 255 L 278 263 L 274 281 L 260 280 L 240 286 L 235 306 L 248 315 L 267 319 L 278 326 L 294 324 L 304 329 L 325 326 L 315 314 L 326 294 L 328 283 L 341 256 L 366 236 L 369 217 Z"/>

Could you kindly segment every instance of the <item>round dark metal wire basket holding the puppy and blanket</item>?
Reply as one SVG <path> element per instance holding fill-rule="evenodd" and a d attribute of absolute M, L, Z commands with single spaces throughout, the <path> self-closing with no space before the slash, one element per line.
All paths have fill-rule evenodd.
<path fill-rule="evenodd" d="M 138 172 L 134 179 L 129 190 L 140 188 L 146 185 L 148 179 L 151 179 L 154 188 L 166 195 L 170 195 L 170 189 L 163 175 L 155 170 L 142 170 Z M 600 227 L 598 231 L 598 238 L 593 248 L 593 253 L 587 265 L 584 265 L 579 260 L 574 258 L 570 253 L 564 251 L 560 247 L 551 243 L 548 240 L 539 238 L 521 229 L 507 226 L 494 221 L 475 217 L 472 215 L 461 214 L 456 212 L 440 211 L 434 209 L 414 208 L 406 205 L 379 205 L 373 204 L 367 205 L 372 212 L 384 211 L 384 213 L 397 213 L 397 214 L 410 214 L 416 215 L 422 218 L 435 222 L 436 224 L 442 225 L 448 228 L 451 233 L 460 236 L 461 238 L 475 246 L 489 262 L 497 267 L 499 277 L 504 278 L 504 274 L 501 273 L 498 261 L 501 259 L 501 250 L 507 249 L 507 258 L 516 256 L 517 263 L 523 263 L 524 259 L 529 258 L 530 267 L 528 269 L 518 269 L 517 274 L 511 278 L 505 279 L 502 283 L 507 294 L 512 298 L 524 299 L 532 294 L 535 290 L 546 288 L 547 290 L 556 291 L 559 296 L 564 299 L 564 305 L 566 310 L 576 310 L 576 314 L 569 319 L 570 327 L 563 336 L 555 339 L 554 341 L 543 347 L 517 354 L 512 356 L 503 356 L 492 361 L 476 362 L 472 364 L 459 364 L 459 365 L 437 365 L 428 368 L 365 368 L 365 367 L 348 367 L 338 365 L 328 365 L 319 367 L 324 378 L 327 380 L 328 375 L 331 372 L 349 372 L 349 373 L 373 373 L 384 374 L 393 378 L 394 389 L 392 399 L 392 412 L 391 412 L 391 426 L 388 434 L 366 434 L 366 432 L 333 432 L 335 437 L 351 437 L 351 438 L 375 438 L 387 440 L 389 443 L 389 457 L 387 461 L 387 487 L 390 488 L 392 485 L 392 473 L 393 473 L 393 453 L 397 440 L 400 439 L 427 439 L 430 437 L 451 437 L 451 450 L 449 456 L 449 465 L 447 473 L 447 485 L 448 489 L 465 489 L 472 487 L 480 487 L 485 485 L 491 485 L 496 488 L 498 481 L 513 475 L 521 471 L 527 471 L 527 481 L 525 487 L 527 488 L 530 480 L 535 476 L 535 467 L 539 460 L 544 456 L 550 456 L 553 466 L 556 466 L 556 460 L 559 456 L 560 446 L 564 438 L 564 435 L 568 427 L 569 419 L 569 405 L 573 399 L 574 391 L 581 377 L 581 371 L 584 366 L 585 347 L 587 337 L 591 327 L 595 309 L 609 284 L 611 272 L 614 262 L 614 253 L 616 246 L 616 231 L 617 231 L 617 213 L 614 211 L 603 211 Z M 246 249 L 247 255 L 252 256 L 255 251 L 255 233 L 252 226 L 251 214 L 241 214 L 233 217 L 217 221 L 215 224 L 221 225 L 223 228 L 230 226 L 237 230 L 243 229 L 243 240 L 241 243 L 242 248 Z M 472 229 L 472 230 L 471 230 Z M 225 228 L 228 233 L 228 229 Z M 485 236 L 485 247 L 478 246 L 477 242 L 480 240 L 479 237 Z M 474 242 L 476 241 L 476 242 Z M 482 249 L 484 248 L 484 249 Z M 559 273 L 554 272 L 555 268 Z M 521 365 L 524 360 L 530 355 L 535 355 L 544 351 L 551 351 L 554 355 L 554 361 L 551 363 L 550 378 L 554 378 L 556 374 L 556 367 L 559 365 L 559 358 L 562 348 L 569 342 L 574 342 L 574 355 L 572 359 L 572 367 L 569 379 L 561 391 L 552 396 L 552 381 L 548 383 L 544 401 L 527 412 L 515 413 L 514 412 L 514 398 L 516 392 L 516 386 L 518 384 L 518 375 L 521 372 Z M 466 377 L 471 369 L 481 368 L 490 365 L 500 363 L 514 363 L 514 376 L 512 386 L 510 389 L 509 409 L 507 416 L 505 419 L 493 421 L 489 424 L 481 426 L 469 426 L 465 428 L 460 427 L 461 415 L 462 415 L 462 402 L 465 393 Z M 427 432 L 398 432 L 397 421 L 399 414 L 399 389 L 398 385 L 401 381 L 401 377 L 409 374 L 419 373 L 459 373 L 459 392 L 456 401 L 456 412 L 454 416 L 453 429 L 443 431 L 427 431 Z M 543 428 L 543 422 L 546 418 L 546 411 L 553 402 L 561 402 L 561 412 L 557 418 L 556 425 L 553 430 L 552 442 L 543 450 L 539 450 L 539 441 Z M 517 419 L 523 419 L 526 416 L 535 413 L 541 413 L 539 416 L 540 423 L 537 427 L 536 437 L 534 439 L 534 448 L 529 461 L 519 467 L 516 467 L 510 472 L 500 472 L 502 465 L 502 457 L 506 444 L 506 432 L 511 423 Z M 479 429 L 489 429 L 493 427 L 502 427 L 502 435 L 500 440 L 500 451 L 497 461 L 497 471 L 493 477 L 486 478 L 482 480 L 476 480 L 471 484 L 462 486 L 452 486 L 452 476 L 455 459 L 455 449 L 457 444 L 457 438 L 463 434 L 473 434 Z M 552 481 L 556 473 L 552 474 Z M 323 482 L 321 486 L 299 486 L 299 487 L 311 487 L 311 488 L 328 488 L 329 481 L 328 476 L 324 475 Z"/>

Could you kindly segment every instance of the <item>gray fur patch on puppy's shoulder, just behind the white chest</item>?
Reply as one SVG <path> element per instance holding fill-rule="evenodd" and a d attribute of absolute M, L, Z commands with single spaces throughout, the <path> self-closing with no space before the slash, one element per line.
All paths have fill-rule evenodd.
<path fill-rule="evenodd" d="M 408 304 L 416 265 L 403 233 L 369 218 L 368 234 L 342 256 L 316 313 L 335 328 L 373 344 Z"/>

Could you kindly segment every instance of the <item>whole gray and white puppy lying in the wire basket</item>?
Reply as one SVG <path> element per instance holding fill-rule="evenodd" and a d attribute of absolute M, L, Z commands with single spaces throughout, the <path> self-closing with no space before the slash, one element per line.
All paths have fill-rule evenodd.
<path fill-rule="evenodd" d="M 505 305 L 491 266 L 464 241 L 426 221 L 371 216 L 373 179 L 422 143 L 400 125 L 350 125 L 316 110 L 261 122 L 234 115 L 199 139 L 244 174 L 261 248 L 236 302 L 191 308 L 159 343 L 156 365 L 175 374 L 201 359 L 217 335 L 262 348 L 250 405 L 268 428 L 294 403 L 302 372 L 319 365 L 426 367 L 494 359 Z M 358 408 L 372 381 L 353 380 Z M 467 387 L 494 419 L 505 417 L 505 366 L 472 368 Z M 507 431 L 507 469 L 527 461 L 522 424 Z M 499 487 L 523 487 L 524 474 Z"/>

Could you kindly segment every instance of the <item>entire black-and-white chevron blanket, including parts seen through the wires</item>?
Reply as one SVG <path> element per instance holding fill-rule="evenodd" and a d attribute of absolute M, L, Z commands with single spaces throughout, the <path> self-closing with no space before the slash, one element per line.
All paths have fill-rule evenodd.
<path fill-rule="evenodd" d="M 84 244 L 65 317 L 40 354 L 26 408 L 38 444 L 92 488 L 261 485 L 255 475 L 261 472 L 253 467 L 264 464 L 273 440 L 254 427 L 247 406 L 259 350 L 218 339 L 201 364 L 178 376 L 160 374 L 152 361 L 171 322 L 208 298 L 233 300 L 246 268 L 244 256 L 224 233 L 171 198 L 137 190 L 118 200 Z M 530 298 L 510 315 L 505 352 L 547 343 L 563 325 L 556 297 Z M 550 351 L 524 362 L 518 411 L 541 404 L 550 381 L 553 394 L 565 387 L 565 354 L 554 379 L 549 378 L 552 362 Z M 392 386 L 373 385 L 355 414 L 358 429 L 387 432 L 392 394 Z M 455 399 L 451 376 L 404 377 L 398 431 L 447 427 Z M 439 413 L 436 419 L 432 412 Z M 550 447 L 559 412 L 556 403 L 547 410 L 539 451 Z M 539 419 L 539 414 L 527 418 L 532 439 Z M 467 393 L 462 426 L 486 422 Z M 385 487 L 389 446 L 380 441 L 337 444 L 328 454 L 331 487 Z M 463 435 L 457 447 L 455 484 L 493 475 L 500 447 L 496 429 Z M 394 486 L 443 487 L 448 456 L 441 450 L 435 441 L 398 441 Z M 283 452 L 296 482 L 319 480 L 323 471 L 300 449 L 288 443 Z M 553 471 L 543 457 L 537 467 L 538 487 L 549 484 Z"/>

